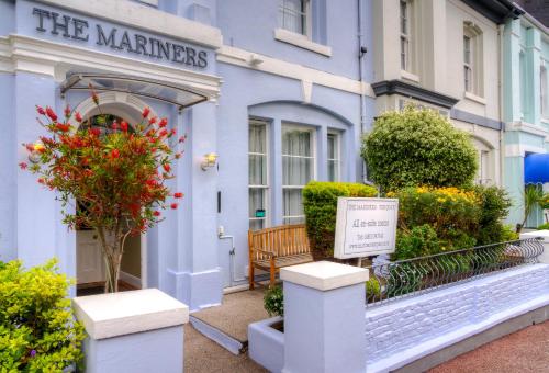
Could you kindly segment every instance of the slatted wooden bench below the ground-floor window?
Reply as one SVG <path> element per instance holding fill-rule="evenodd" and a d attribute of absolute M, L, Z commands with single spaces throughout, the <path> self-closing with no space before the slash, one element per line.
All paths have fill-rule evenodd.
<path fill-rule="evenodd" d="M 282 267 L 313 261 L 304 224 L 283 225 L 248 231 L 249 289 L 254 290 L 256 268 L 270 273 L 270 286 Z"/>

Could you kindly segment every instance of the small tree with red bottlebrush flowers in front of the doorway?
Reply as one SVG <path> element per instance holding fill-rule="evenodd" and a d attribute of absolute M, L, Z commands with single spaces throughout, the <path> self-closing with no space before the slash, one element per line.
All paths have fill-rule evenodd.
<path fill-rule="evenodd" d="M 94 92 L 92 99 L 100 109 Z M 160 222 L 160 211 L 177 208 L 176 200 L 183 196 L 166 187 L 173 178 L 171 162 L 181 157 L 168 145 L 176 129 L 168 129 L 166 118 L 150 116 L 148 108 L 134 127 L 109 114 L 82 121 L 69 106 L 63 118 L 52 108 L 36 110 L 47 135 L 24 144 L 32 162 L 19 166 L 58 192 L 69 228 L 96 231 L 107 269 L 105 293 L 116 292 L 126 238 Z M 72 116 L 78 128 L 70 124 Z"/>

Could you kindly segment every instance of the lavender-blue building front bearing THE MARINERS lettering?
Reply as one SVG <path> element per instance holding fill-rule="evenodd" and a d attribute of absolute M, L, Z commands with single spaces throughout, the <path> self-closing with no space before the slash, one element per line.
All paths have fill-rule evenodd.
<path fill-rule="evenodd" d="M 79 289 L 102 280 L 93 233 L 67 230 L 55 194 L 16 166 L 27 159 L 21 144 L 42 133 L 35 104 L 70 104 L 93 118 L 92 83 L 102 112 L 135 124 L 150 106 L 189 136 L 172 181 L 186 193 L 181 208 L 130 244 L 122 279 L 191 309 L 219 304 L 225 287 L 247 282 L 248 228 L 303 222 L 309 180 L 362 180 L 360 136 L 376 112 L 371 18 L 371 0 L 0 1 L 0 260 L 34 265 L 56 256 Z M 482 22 L 492 35 L 495 26 Z M 395 32 L 390 43 L 399 43 Z M 492 64 L 495 46 L 486 48 Z M 402 78 L 407 68 L 394 58 L 378 80 Z M 422 91 L 460 94 L 446 75 L 412 66 Z M 497 132 L 497 104 L 482 103 L 495 93 L 482 89 L 459 117 Z M 449 110 L 453 99 L 440 100 Z M 479 136 L 491 151 L 486 178 L 495 179 L 497 142 Z M 203 165 L 208 154 L 217 159 Z"/>

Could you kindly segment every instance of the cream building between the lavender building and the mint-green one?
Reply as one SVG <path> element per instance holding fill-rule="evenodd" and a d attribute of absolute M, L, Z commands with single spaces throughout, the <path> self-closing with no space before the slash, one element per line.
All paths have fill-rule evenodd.
<path fill-rule="evenodd" d="M 469 132 L 477 183 L 502 185 L 501 31 L 522 11 L 512 2 L 373 2 L 377 112 L 412 103 Z"/>

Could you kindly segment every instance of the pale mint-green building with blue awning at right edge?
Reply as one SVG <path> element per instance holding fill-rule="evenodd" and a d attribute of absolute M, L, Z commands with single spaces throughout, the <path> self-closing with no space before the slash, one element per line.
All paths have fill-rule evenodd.
<path fill-rule="evenodd" d="M 530 7 L 533 3 L 523 2 Z M 538 183 L 538 188 L 549 181 L 533 178 L 533 172 L 544 173 L 535 169 L 544 167 L 537 161 L 527 165 L 530 176 L 525 174 L 526 159 L 531 155 L 547 154 L 549 149 L 549 32 L 533 15 L 524 13 L 518 19 L 505 22 L 503 35 L 504 184 L 513 199 L 508 222 L 517 224 L 523 222 L 525 214 L 525 181 Z M 541 210 L 536 208 L 526 222 L 526 227 L 537 227 L 545 219 Z"/>

